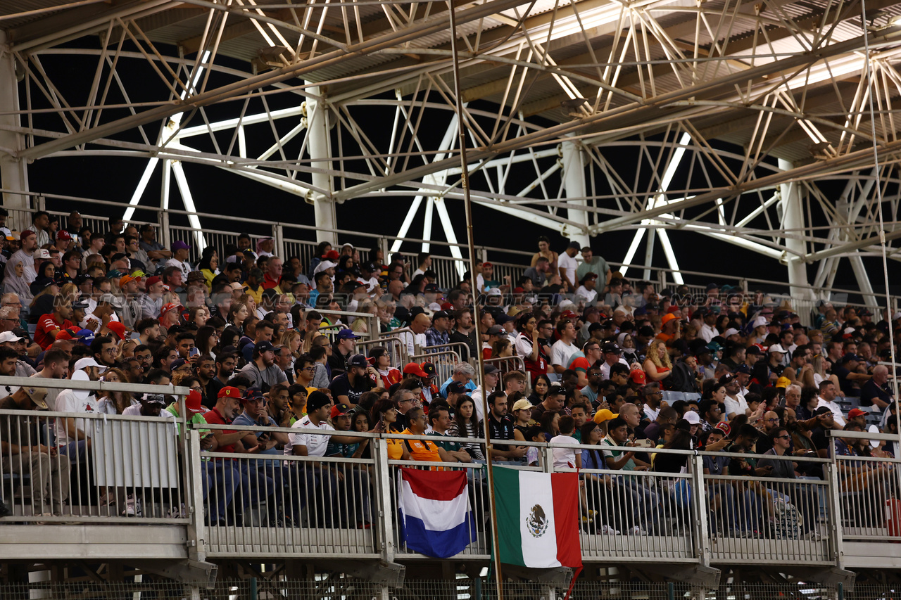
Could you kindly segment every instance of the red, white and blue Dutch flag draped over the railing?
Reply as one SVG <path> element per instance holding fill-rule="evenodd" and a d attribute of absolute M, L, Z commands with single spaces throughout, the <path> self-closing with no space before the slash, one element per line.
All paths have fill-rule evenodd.
<path fill-rule="evenodd" d="M 400 534 L 409 550 L 447 559 L 476 540 L 465 471 L 401 468 L 397 488 Z"/>

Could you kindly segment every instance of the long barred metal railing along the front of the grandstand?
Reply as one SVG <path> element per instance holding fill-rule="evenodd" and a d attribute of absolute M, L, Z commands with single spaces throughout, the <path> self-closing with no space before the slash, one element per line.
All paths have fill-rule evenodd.
<path fill-rule="evenodd" d="M 8 378 L 12 384 L 29 381 Z M 64 380 L 46 385 L 76 392 L 135 387 Z M 176 414 L 184 414 L 182 398 L 167 399 Z M 441 468 L 464 470 L 469 482 L 474 526 L 460 557 L 488 559 L 490 502 L 482 460 L 488 453 L 481 438 L 195 425 L 166 410 L 157 414 L 151 406 L 142 406 L 139 416 L 0 411 L 2 489 L 14 510 L 2 521 L 180 525 L 210 557 L 418 559 L 399 533 L 398 472 Z M 462 452 L 441 462 L 413 460 L 422 455 L 404 449 L 412 453 L 414 441 L 460 444 Z M 568 450 L 596 466 L 580 472 L 578 527 L 587 561 L 817 566 L 836 564 L 843 541 L 901 538 L 898 461 L 873 456 L 868 449 L 878 443 L 872 441 L 892 437 L 836 432 L 830 458 L 620 447 L 609 445 L 609 438 L 603 445 L 495 445 L 533 450 L 525 453 L 532 466 L 513 456 L 501 463 L 506 467 L 553 472 Z M 232 453 L 235 444 L 247 451 Z M 432 450 L 431 460 L 441 456 Z M 626 455 L 635 468 L 623 470 L 629 468 Z M 718 468 L 710 472 L 705 461 Z"/>

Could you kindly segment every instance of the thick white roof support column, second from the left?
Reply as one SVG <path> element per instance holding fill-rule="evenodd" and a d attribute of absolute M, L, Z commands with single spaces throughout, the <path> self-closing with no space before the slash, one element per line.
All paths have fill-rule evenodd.
<path fill-rule="evenodd" d="M 318 86 L 310 87 L 309 90 L 310 94 L 315 96 L 322 96 L 325 91 Z M 306 121 L 309 135 L 306 147 L 310 152 L 310 159 L 312 159 L 311 167 L 332 170 L 332 143 L 329 136 L 328 111 L 317 98 L 307 97 L 306 99 Z M 332 194 L 332 176 L 327 173 L 314 173 L 313 186 Z M 338 242 L 337 235 L 326 231 L 338 228 L 334 202 L 319 192 L 313 193 L 312 202 L 316 222 L 316 241 L 328 241 L 336 244 Z"/>

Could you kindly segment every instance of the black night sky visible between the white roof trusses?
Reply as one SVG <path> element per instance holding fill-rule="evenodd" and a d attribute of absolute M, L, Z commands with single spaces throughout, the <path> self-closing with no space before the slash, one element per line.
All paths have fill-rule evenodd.
<path fill-rule="evenodd" d="M 90 46 L 92 41 L 77 42 L 82 46 Z M 91 84 L 91 77 L 96 68 L 96 59 L 83 57 L 67 57 L 68 62 L 61 60 L 53 61 L 45 57 L 43 59 L 45 67 L 50 72 L 56 83 L 61 87 L 71 105 L 82 105 L 86 98 L 87 90 Z M 239 67 L 239 64 L 235 64 Z M 141 67 L 143 70 L 141 70 Z M 132 101 L 141 100 L 159 100 L 162 86 L 159 85 L 159 78 L 156 78 L 145 64 L 130 62 L 129 68 L 121 68 L 120 73 L 125 79 L 126 86 L 132 94 Z M 232 79 L 229 77 L 214 75 L 208 84 L 208 89 L 214 86 L 222 85 Z M 24 86 L 20 86 L 21 95 L 24 106 Z M 165 94 L 164 91 L 162 91 Z M 32 90 L 32 98 L 36 94 Z M 113 89 L 108 102 L 121 102 L 122 98 L 117 91 Z M 271 110 L 293 105 L 298 101 L 296 95 L 270 95 L 267 98 L 268 106 Z M 258 101 L 259 102 L 259 101 Z M 209 111 L 209 118 L 218 119 L 223 117 L 233 117 L 238 114 L 241 103 L 232 102 L 220 106 L 214 106 Z M 254 110 L 261 109 L 261 105 L 252 105 L 248 113 L 256 112 Z M 393 109 L 375 109 L 375 108 L 353 108 L 356 118 L 365 123 L 370 135 L 388 135 L 393 120 Z M 366 114 L 361 111 L 368 111 Z M 104 114 L 103 122 L 113 120 L 124 116 L 123 110 L 109 110 Z M 423 137 L 434 139 L 432 147 L 437 147 L 437 142 L 444 131 L 444 123 L 447 123 L 449 115 L 440 114 L 438 116 L 430 116 L 432 124 L 431 132 L 425 132 Z M 283 120 L 278 123 L 280 132 L 285 132 L 293 127 L 296 121 Z M 36 115 L 35 126 L 46 126 L 51 129 L 59 129 L 59 118 L 47 115 Z M 190 124 L 203 123 L 199 114 L 194 114 Z M 146 127 L 150 136 L 155 135 L 159 131 L 158 124 L 151 124 Z M 259 130 L 257 130 L 259 131 Z M 271 133 L 254 138 L 252 129 L 248 130 L 249 155 L 253 155 L 254 150 L 262 150 L 268 147 L 272 142 Z M 433 132 L 433 133 L 432 133 Z M 141 141 L 140 136 L 136 132 L 124 132 L 115 136 L 121 140 Z M 437 138 L 437 139 L 435 139 Z M 227 132 L 223 132 L 218 138 L 220 144 L 227 146 L 230 139 Z M 299 149 L 299 143 L 303 136 L 296 138 L 296 146 Z M 335 130 L 332 129 L 332 144 L 334 147 L 336 141 Z M 204 144 L 199 138 L 186 142 L 199 150 L 213 150 L 211 142 Z M 386 144 L 387 145 L 387 144 Z M 347 146 L 345 146 L 346 148 Z M 734 149 L 733 149 L 734 150 Z M 258 152 L 259 153 L 259 152 Z M 624 149 L 614 152 L 608 152 L 607 156 L 614 155 L 614 165 L 622 173 L 634 173 L 637 157 L 633 150 Z M 290 153 L 288 153 L 290 156 Z M 295 150 L 296 156 L 296 150 Z M 546 168 L 550 163 L 545 163 L 542 168 Z M 44 193 L 55 193 L 62 195 L 77 195 L 86 197 L 95 197 L 110 201 L 128 202 L 134 187 L 137 185 L 141 172 L 146 165 L 146 159 L 133 158 L 61 158 L 61 159 L 41 159 L 29 166 L 29 180 L 32 191 L 40 191 Z M 337 167 L 337 165 L 335 165 Z M 280 221 L 283 223 L 303 223 L 308 225 L 314 224 L 313 206 L 300 201 L 295 195 L 287 194 L 268 186 L 262 186 L 251 182 L 249 179 L 240 176 L 228 175 L 223 170 L 199 166 L 196 164 L 185 163 L 185 170 L 188 180 L 191 184 L 191 191 L 194 195 L 198 211 L 206 213 L 223 213 L 235 216 L 247 216 L 263 220 Z M 531 166 L 524 170 L 514 171 L 513 180 L 519 177 L 522 181 L 531 181 L 534 177 L 534 171 Z M 626 175 L 624 178 L 629 179 L 631 176 Z M 679 181 L 678 177 L 682 177 Z M 686 173 L 681 173 L 673 183 L 673 187 L 685 185 Z M 596 177 L 598 181 L 601 177 Z M 699 181 L 694 182 L 700 183 Z M 551 186 L 551 193 L 556 193 L 559 186 L 558 179 L 551 177 L 548 182 Z M 478 183 L 476 184 L 478 186 Z M 159 169 L 150 182 L 145 192 L 142 202 L 149 205 L 159 206 L 159 186 L 160 177 Z M 508 190 L 516 187 L 508 186 Z M 605 190 L 600 190 L 605 193 Z M 824 187 L 824 191 L 835 197 L 841 192 L 839 189 L 831 189 Z M 170 207 L 183 208 L 180 198 L 177 194 L 174 181 L 172 182 L 172 192 L 170 195 Z M 406 214 L 409 206 L 409 198 L 394 199 L 372 199 L 364 198 L 359 200 L 351 200 L 337 207 L 338 223 L 341 229 L 362 231 L 362 232 L 382 232 L 388 235 L 396 234 L 403 215 Z M 465 217 L 463 205 L 460 201 L 447 201 L 448 211 L 451 220 L 454 223 L 454 230 L 460 241 L 466 239 Z M 611 204 L 612 205 L 612 204 Z M 70 210 L 70 203 L 50 202 L 51 209 Z M 252 207 L 252 208 L 251 208 Z M 709 207 L 697 209 L 708 210 Z M 84 209 L 85 213 L 93 214 L 121 214 L 110 208 L 104 209 Z M 565 241 L 557 232 L 549 232 L 536 223 L 517 219 L 505 214 L 498 213 L 486 207 L 474 206 L 474 223 L 475 236 L 477 245 L 495 246 L 501 248 L 512 248 L 516 250 L 533 250 L 534 240 L 539 235 L 547 235 L 551 238 L 552 248 L 561 251 L 565 247 Z M 136 218 L 148 218 L 148 214 L 137 214 Z M 887 221 L 892 221 L 890 215 L 886 216 Z M 173 220 L 176 223 L 176 220 Z M 215 229 L 232 229 L 232 225 L 211 221 L 204 222 L 205 227 Z M 825 223 L 815 223 L 825 224 Z M 766 227 L 766 222 L 760 218 L 757 222 L 751 223 L 759 227 Z M 250 232 L 255 232 L 252 227 L 248 227 Z M 408 233 L 408 237 L 421 237 L 423 232 L 423 210 L 417 216 L 413 226 Z M 437 240 L 443 240 L 443 232 L 441 225 L 437 222 L 437 214 L 432 224 L 433 236 Z M 305 239 L 313 240 L 313 232 L 306 232 Z M 633 231 L 608 232 L 597 237 L 593 241 L 593 246 L 600 255 L 605 259 L 621 261 L 625 255 L 633 239 Z M 296 237 L 296 236 L 292 236 Z M 743 275 L 745 277 L 772 278 L 774 280 L 787 281 L 786 268 L 779 265 L 776 261 L 762 258 L 748 250 L 742 250 L 732 244 L 722 241 L 716 241 L 704 236 L 681 231 L 669 232 L 670 240 L 676 250 L 680 266 L 689 270 L 710 271 L 714 273 Z M 344 240 L 341 240 L 344 241 Z M 368 241 L 359 238 L 357 241 L 361 245 L 368 245 Z M 408 243 L 405 245 L 405 251 L 415 252 L 419 250 L 417 245 Z M 435 250 L 436 253 L 442 253 Z M 509 260 L 509 257 L 489 256 L 498 261 Z M 640 247 L 636 254 L 635 261 L 641 262 L 644 258 L 644 246 Z M 872 283 L 875 289 L 882 289 L 882 265 L 879 259 L 864 259 L 865 266 L 872 275 Z M 659 267 L 666 267 L 666 260 L 660 249 L 660 242 L 657 241 L 657 247 L 654 252 L 653 264 Z M 897 272 L 897 264 L 890 264 L 889 275 L 894 277 Z M 808 266 L 808 277 L 813 280 L 815 275 L 815 265 Z M 630 272 L 630 277 L 637 277 L 636 271 Z M 689 283 L 705 283 L 704 277 L 686 277 Z M 836 286 L 844 286 L 856 288 L 856 280 L 853 277 L 851 268 L 847 261 L 842 261 L 836 277 Z M 778 288 L 776 288 L 778 289 Z M 773 289 L 772 291 L 776 291 Z"/>

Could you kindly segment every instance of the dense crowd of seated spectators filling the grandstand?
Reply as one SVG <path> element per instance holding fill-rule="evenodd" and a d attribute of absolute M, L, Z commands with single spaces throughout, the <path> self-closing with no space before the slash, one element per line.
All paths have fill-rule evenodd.
<path fill-rule="evenodd" d="M 298 457 L 370 458 L 367 439 L 341 432 L 394 432 L 401 435 L 387 440 L 389 459 L 535 465 L 542 457 L 523 442 L 550 441 L 597 446 L 554 448 L 554 468 L 679 473 L 685 455 L 653 450 L 720 450 L 748 458 L 705 456 L 705 473 L 785 479 L 823 477 L 803 459 L 829 456 L 830 430 L 844 455 L 896 452 L 892 443 L 871 448 L 840 431 L 860 430 L 869 414 L 881 431 L 897 431 L 892 373 L 879 362 L 890 358 L 901 314 L 874 317 L 821 302 L 805 326 L 762 293 L 715 283 L 699 295 L 686 286 L 657 289 L 626 279 L 590 247 L 573 242 L 558 253 L 544 238 L 520 277 L 498 279 L 484 263 L 459 281 L 441 281 L 424 253 L 362 257 L 350 244 L 323 242 L 304 264 L 276 256 L 271 239 L 241 234 L 236 245 L 207 247 L 191 264 L 193 249 L 184 241 L 163 247 L 152 225 L 115 221 L 100 233 L 80 221 L 72 213 L 63 229 L 39 212 L 31 230 L 0 223 L 0 375 L 35 378 L 34 387 L 5 386 L 0 408 L 169 418 L 178 416 L 177 402 L 152 386 L 172 383 L 191 388 L 185 406 L 195 427 L 259 428 L 207 430 L 203 450 Z M 386 345 L 358 346 L 375 328 L 395 332 L 410 356 L 453 344 L 460 363 L 444 380 L 432 362 L 396 364 Z M 479 353 L 502 360 L 477 373 Z M 57 393 L 41 387 L 42 377 L 103 378 L 147 391 Z M 669 392 L 681 399 L 668 402 Z M 845 412 L 842 397 L 860 398 L 859 407 Z M 481 443 L 486 432 L 490 454 Z M 26 435 L 2 441 L 2 466 L 41 468 L 35 512 L 59 514 L 69 493 L 60 457 L 86 464 L 90 429 L 59 418 L 46 445 L 23 445 Z M 785 455 L 798 460 L 778 458 Z M 42 468 L 45 457 L 66 467 Z M 224 523 L 265 503 L 271 524 L 296 523 L 306 503 L 340 503 L 344 509 L 332 506 L 323 523 L 369 527 L 365 468 L 297 464 L 205 462 L 207 519 Z M 842 477 L 866 482 L 874 464 L 855 463 Z M 642 477 L 585 478 L 583 518 L 611 534 L 653 531 L 661 495 L 682 502 L 689 495 Z M 310 493 L 288 500 L 296 494 L 286 488 L 300 482 Z M 633 510 L 610 514 L 611 500 L 597 493 L 608 484 Z M 104 502 L 121 503 L 117 494 L 107 491 Z M 708 495 L 719 507 L 716 526 L 736 535 L 765 534 L 770 505 L 783 496 L 756 484 L 716 484 Z M 125 501 L 126 514 L 140 511 L 137 500 Z M 814 534 L 814 511 L 806 509 L 815 498 L 783 500 L 801 509 L 805 532 Z"/>

